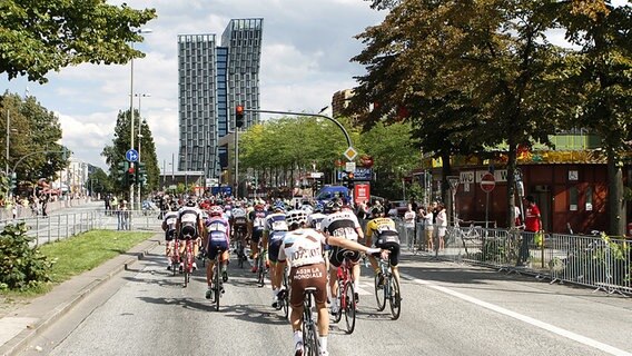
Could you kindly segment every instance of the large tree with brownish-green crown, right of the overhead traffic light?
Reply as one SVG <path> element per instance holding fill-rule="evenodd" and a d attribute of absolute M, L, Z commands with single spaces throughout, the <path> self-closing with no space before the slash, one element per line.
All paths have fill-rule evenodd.
<path fill-rule="evenodd" d="M 456 152 L 505 145 L 513 214 L 517 146 L 550 144 L 547 135 L 567 111 L 557 99 L 564 51 L 545 39 L 559 6 L 403 1 L 358 36 L 367 46 L 353 60 L 368 72 L 358 78 L 352 107 L 377 103 L 363 118 L 369 126 L 411 120 L 421 148 L 444 165 Z"/>

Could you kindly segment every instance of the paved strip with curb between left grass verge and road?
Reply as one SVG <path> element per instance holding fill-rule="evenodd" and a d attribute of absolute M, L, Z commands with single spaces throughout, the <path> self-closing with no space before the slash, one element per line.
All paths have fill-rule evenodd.
<path fill-rule="evenodd" d="M 126 254 L 56 286 L 50 293 L 37 297 L 28 305 L 2 315 L 0 317 L 0 355 L 18 355 L 30 340 L 62 317 L 85 296 L 127 269 L 128 266 L 142 259 L 161 240 L 162 234 L 156 234 Z"/>

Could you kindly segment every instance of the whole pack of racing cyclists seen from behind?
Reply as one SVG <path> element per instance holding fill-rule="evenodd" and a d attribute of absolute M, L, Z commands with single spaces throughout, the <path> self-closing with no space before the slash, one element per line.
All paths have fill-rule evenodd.
<path fill-rule="evenodd" d="M 265 268 L 269 268 L 271 286 L 271 306 L 279 308 L 279 296 L 287 290 L 283 287 L 283 275 L 289 271 L 289 305 L 292 306 L 290 324 L 294 330 L 295 355 L 303 355 L 302 315 L 305 288 L 315 288 L 315 303 L 318 312 L 318 332 L 320 355 L 327 353 L 327 334 L 329 313 L 327 301 L 330 301 L 332 314 L 339 306 L 337 298 L 337 267 L 347 259 L 352 266 L 354 290 L 357 290 L 361 277 L 361 254 L 366 254 L 368 260 L 382 283 L 376 256 L 388 259 L 393 276 L 399 280 L 397 269 L 399 260 L 399 239 L 395 221 L 384 216 L 384 208 L 377 204 L 371 209 L 372 219 L 363 230 L 361 222 L 349 201 L 337 198 L 326 205 L 304 202 L 292 207 L 277 199 L 263 200 L 219 200 L 188 197 L 182 206 L 170 202 L 170 211 L 165 212 L 162 229 L 165 230 L 166 256 L 169 260 L 167 268 L 172 268 L 172 257 L 176 234 L 178 239 L 195 239 L 194 254 L 208 258 L 206 281 L 208 289 L 206 298 L 211 297 L 214 264 L 220 254 L 223 281 L 228 280 L 228 260 L 231 246 L 236 238 L 240 246 L 249 241 L 250 256 L 257 260 L 260 254 L 266 258 Z M 364 244 L 361 244 L 364 243 Z M 236 251 L 237 253 L 237 251 Z M 180 254 L 181 255 L 181 254 Z M 180 268 L 182 265 L 180 264 Z M 197 266 L 194 264 L 194 269 Z M 254 264 L 251 271 L 257 271 Z M 328 277 L 328 278 L 327 278 Z M 328 280 L 328 283 L 327 283 Z M 355 294 L 355 303 L 358 295 Z"/>

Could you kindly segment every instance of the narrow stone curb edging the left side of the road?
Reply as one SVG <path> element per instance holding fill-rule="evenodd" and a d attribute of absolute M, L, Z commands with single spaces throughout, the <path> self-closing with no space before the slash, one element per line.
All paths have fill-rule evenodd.
<path fill-rule="evenodd" d="M 57 306 L 51 306 L 52 309 L 43 315 L 33 325 L 28 325 L 24 330 L 16 335 L 4 345 L 0 346 L 0 355 L 2 356 L 14 356 L 24 352 L 26 347 L 30 342 L 32 342 L 37 336 L 43 333 L 49 326 L 55 324 L 59 318 L 70 312 L 79 301 L 83 300 L 86 296 L 99 288 L 102 284 L 127 270 L 130 265 L 141 260 L 149 254 L 149 251 L 160 245 L 161 234 L 156 234 L 151 236 L 144 243 L 131 248 L 127 254 L 132 256 L 119 255 L 113 258 L 113 260 L 120 259 L 120 261 L 112 261 L 115 267 L 110 268 L 102 277 L 95 279 L 90 284 L 86 285 L 72 295 L 70 299 L 67 299 Z M 107 264 L 108 261 L 106 261 Z M 89 271 L 88 271 L 89 273 Z"/>

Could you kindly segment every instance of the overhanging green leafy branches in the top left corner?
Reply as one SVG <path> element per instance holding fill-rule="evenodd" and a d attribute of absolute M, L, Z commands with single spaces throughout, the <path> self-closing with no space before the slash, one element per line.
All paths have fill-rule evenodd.
<path fill-rule="evenodd" d="M 142 41 L 136 29 L 155 17 L 155 9 L 135 10 L 105 0 L 3 0 L 0 73 L 46 82 L 49 71 L 67 66 L 126 63 L 144 56 L 130 43 Z"/>

